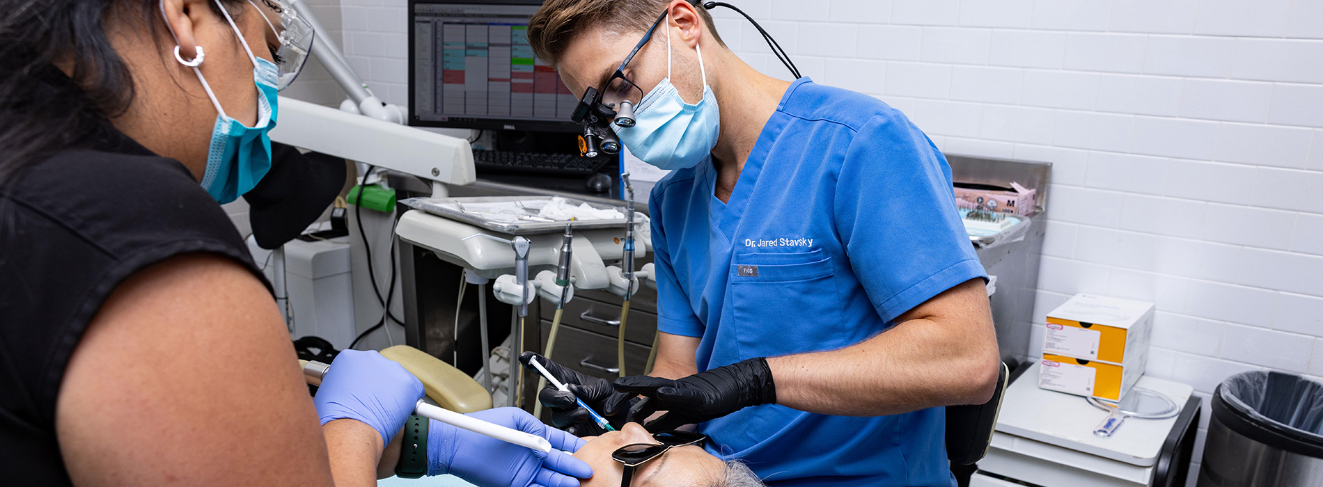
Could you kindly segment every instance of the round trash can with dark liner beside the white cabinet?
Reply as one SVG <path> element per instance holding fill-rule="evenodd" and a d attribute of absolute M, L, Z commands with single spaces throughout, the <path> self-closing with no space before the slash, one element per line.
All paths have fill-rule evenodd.
<path fill-rule="evenodd" d="M 1323 384 L 1244 372 L 1212 402 L 1199 487 L 1323 486 Z"/>

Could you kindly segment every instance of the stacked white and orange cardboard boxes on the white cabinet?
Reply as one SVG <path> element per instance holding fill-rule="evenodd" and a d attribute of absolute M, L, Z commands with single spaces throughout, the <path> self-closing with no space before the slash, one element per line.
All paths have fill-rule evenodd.
<path fill-rule="evenodd" d="M 1048 314 L 1039 386 L 1119 401 L 1144 373 L 1154 304 L 1078 294 Z"/>

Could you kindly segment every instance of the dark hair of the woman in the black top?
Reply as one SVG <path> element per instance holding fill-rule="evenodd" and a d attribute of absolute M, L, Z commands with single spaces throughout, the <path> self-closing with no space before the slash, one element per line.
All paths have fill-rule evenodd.
<path fill-rule="evenodd" d="M 106 24 L 135 9 L 155 36 L 160 0 L 0 0 L 0 185 L 42 157 L 114 134 L 110 119 L 128 110 L 134 79 Z"/>

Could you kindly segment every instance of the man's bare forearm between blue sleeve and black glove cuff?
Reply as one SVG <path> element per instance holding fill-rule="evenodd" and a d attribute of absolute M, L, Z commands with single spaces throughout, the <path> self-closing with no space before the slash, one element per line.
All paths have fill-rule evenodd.
<path fill-rule="evenodd" d="M 992 397 L 1000 359 L 982 278 L 896 322 L 851 347 L 767 359 L 777 404 L 810 413 L 882 416 Z"/>

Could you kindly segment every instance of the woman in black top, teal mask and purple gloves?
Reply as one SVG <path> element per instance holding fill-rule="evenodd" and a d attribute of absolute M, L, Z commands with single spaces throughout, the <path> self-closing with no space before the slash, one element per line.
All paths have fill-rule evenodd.
<path fill-rule="evenodd" d="M 0 0 L 5 486 L 374 486 L 411 457 L 418 378 L 344 351 L 310 397 L 220 206 L 271 169 L 311 36 L 271 0 Z M 472 416 L 556 450 L 433 422 L 407 472 L 591 475 L 566 453 L 582 441 L 531 414 Z"/>

